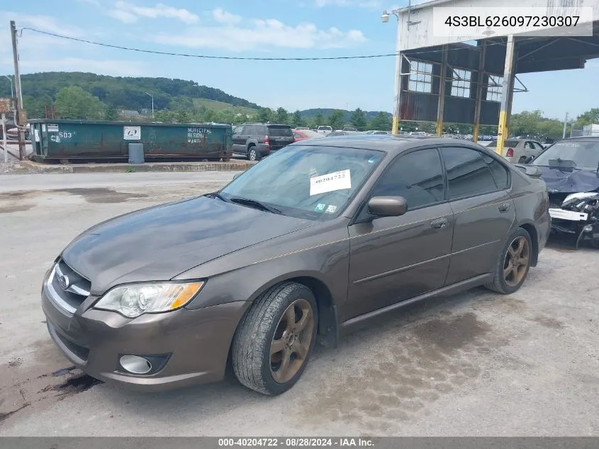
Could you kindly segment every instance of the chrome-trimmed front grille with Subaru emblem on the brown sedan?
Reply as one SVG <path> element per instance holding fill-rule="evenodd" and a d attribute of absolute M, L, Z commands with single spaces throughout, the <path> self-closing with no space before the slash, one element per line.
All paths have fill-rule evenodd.
<path fill-rule="evenodd" d="M 61 278 L 66 281 L 61 285 Z M 69 314 L 74 314 L 89 296 L 91 282 L 79 275 L 64 260 L 59 260 L 47 281 L 47 294 L 57 306 Z"/>

